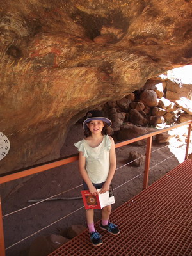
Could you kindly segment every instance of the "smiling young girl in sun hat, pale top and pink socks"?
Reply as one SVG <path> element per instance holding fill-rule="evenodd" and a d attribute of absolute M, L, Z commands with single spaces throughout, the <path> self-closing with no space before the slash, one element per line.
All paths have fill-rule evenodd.
<path fill-rule="evenodd" d="M 93 110 L 86 114 L 83 122 L 85 139 L 74 145 L 79 151 L 79 172 L 83 177 L 84 190 L 89 190 L 93 195 L 109 190 L 116 169 L 115 143 L 112 134 L 111 120 L 104 117 L 102 111 Z M 112 131 L 112 132 L 111 132 Z M 113 235 L 119 234 L 118 227 L 109 222 L 111 205 L 102 209 L 100 228 Z M 94 210 L 86 210 L 86 220 L 90 239 L 94 246 L 102 244 L 100 234 L 95 230 L 93 221 Z"/>

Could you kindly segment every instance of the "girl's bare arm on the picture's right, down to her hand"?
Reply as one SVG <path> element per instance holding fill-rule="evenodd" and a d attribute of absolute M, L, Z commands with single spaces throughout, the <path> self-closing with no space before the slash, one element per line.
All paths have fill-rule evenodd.
<path fill-rule="evenodd" d="M 113 138 L 111 137 L 109 138 L 111 140 L 111 149 L 109 151 L 110 167 L 109 167 L 108 178 L 106 179 L 106 182 L 104 183 L 100 191 L 101 194 L 109 190 L 109 185 L 111 184 L 111 180 L 113 179 L 113 176 L 115 174 L 115 169 L 116 169 L 115 143 Z"/>

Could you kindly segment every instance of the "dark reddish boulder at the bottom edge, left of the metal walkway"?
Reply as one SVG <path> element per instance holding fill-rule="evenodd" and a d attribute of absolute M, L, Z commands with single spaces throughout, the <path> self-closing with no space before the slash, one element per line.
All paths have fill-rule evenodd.
<path fill-rule="evenodd" d="M 67 241 L 69 241 L 69 239 L 54 234 L 37 237 L 31 243 L 28 256 L 47 256 L 62 244 L 67 243 Z"/>

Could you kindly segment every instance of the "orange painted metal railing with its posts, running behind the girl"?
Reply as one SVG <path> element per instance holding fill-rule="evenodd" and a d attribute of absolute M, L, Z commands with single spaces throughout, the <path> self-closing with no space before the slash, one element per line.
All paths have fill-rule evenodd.
<path fill-rule="evenodd" d="M 188 127 L 188 137 L 187 137 L 187 144 L 186 144 L 186 154 L 185 154 L 185 160 L 188 159 L 188 152 L 189 152 L 189 142 L 190 142 L 190 136 L 191 136 L 191 124 L 192 121 L 187 121 L 181 124 L 173 125 L 171 127 L 166 127 L 164 129 L 159 129 L 155 132 L 150 132 L 147 134 L 144 134 L 142 136 L 133 138 L 131 140 L 125 140 L 121 141 L 119 143 L 115 144 L 115 148 L 122 147 L 128 144 L 131 144 L 133 142 L 147 139 L 147 147 L 146 147 L 146 157 L 145 157 L 145 170 L 144 170 L 144 177 L 143 177 L 143 189 L 146 189 L 148 186 L 148 173 L 149 173 L 149 165 L 150 165 L 150 153 L 151 153 L 151 147 L 152 147 L 152 136 L 155 136 L 157 134 L 161 134 L 166 131 L 170 131 L 172 129 L 189 125 Z M 0 184 L 3 184 L 5 182 L 9 182 L 12 180 L 20 179 L 22 177 L 26 177 L 35 173 L 44 172 L 45 170 L 50 170 L 52 168 L 72 163 L 74 161 L 78 160 L 78 154 L 68 157 L 63 157 L 62 159 L 57 159 L 54 161 L 49 161 L 47 163 L 38 164 L 36 166 L 32 166 L 30 168 L 25 168 L 22 170 L 16 170 L 10 173 L 5 173 L 0 175 Z M 4 232 L 3 232 L 3 214 L 2 214 L 2 208 L 1 208 L 1 197 L 0 197 L 0 255 L 5 256 L 5 248 L 4 248 Z"/>

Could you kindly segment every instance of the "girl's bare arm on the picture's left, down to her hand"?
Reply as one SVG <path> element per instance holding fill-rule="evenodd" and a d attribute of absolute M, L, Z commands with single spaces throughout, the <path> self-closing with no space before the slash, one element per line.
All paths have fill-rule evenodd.
<path fill-rule="evenodd" d="M 93 186 L 90 178 L 88 177 L 88 174 L 85 170 L 85 162 L 86 162 L 86 157 L 84 157 L 83 152 L 80 151 L 79 152 L 79 172 L 84 182 L 87 184 L 90 193 L 96 195 L 98 194 L 98 192 L 97 192 L 97 189 Z"/>

